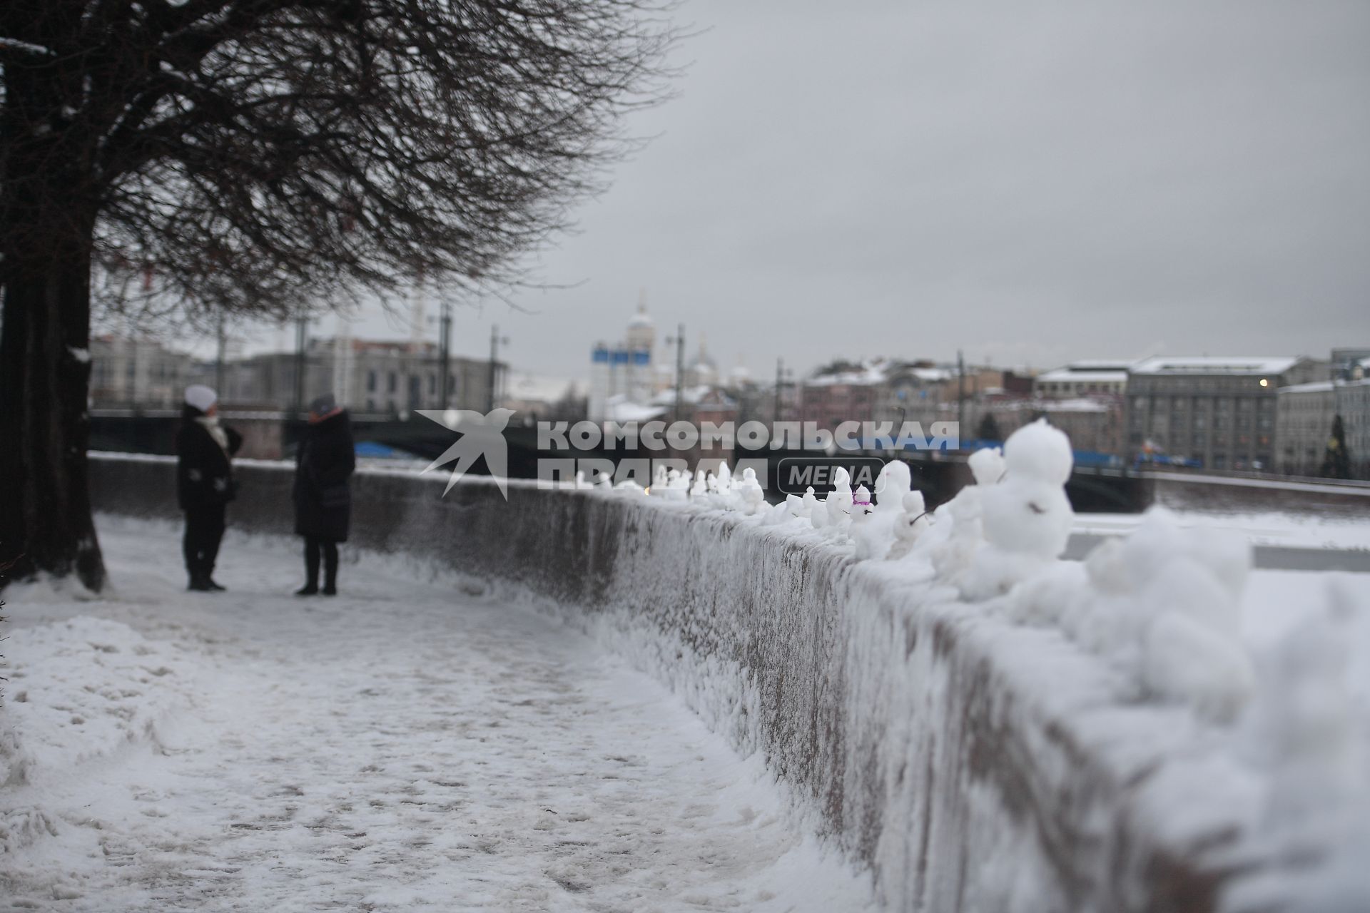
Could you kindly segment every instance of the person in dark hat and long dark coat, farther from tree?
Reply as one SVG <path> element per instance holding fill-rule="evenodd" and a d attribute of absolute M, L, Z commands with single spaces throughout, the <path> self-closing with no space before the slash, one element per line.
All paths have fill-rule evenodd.
<path fill-rule="evenodd" d="M 321 396 L 310 404 L 310 426 L 295 456 L 295 531 L 304 537 L 306 574 L 296 595 L 337 595 L 338 542 L 347 542 L 352 515 L 348 479 L 355 468 L 352 422 L 332 393 Z"/>

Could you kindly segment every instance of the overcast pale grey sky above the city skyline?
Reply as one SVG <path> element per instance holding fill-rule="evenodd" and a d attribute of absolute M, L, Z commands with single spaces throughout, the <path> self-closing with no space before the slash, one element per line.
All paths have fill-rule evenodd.
<path fill-rule="evenodd" d="M 640 287 L 723 368 L 1370 345 L 1370 3 L 688 0 L 656 138 L 497 320 L 588 372 Z M 330 331 L 332 327 L 319 327 Z M 404 335 L 381 316 L 359 333 Z M 275 341 L 264 334 L 262 342 Z"/>

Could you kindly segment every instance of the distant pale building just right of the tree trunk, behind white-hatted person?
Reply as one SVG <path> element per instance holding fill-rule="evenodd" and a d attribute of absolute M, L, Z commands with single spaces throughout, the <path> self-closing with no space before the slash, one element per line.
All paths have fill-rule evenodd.
<path fill-rule="evenodd" d="M 196 379 L 189 355 L 144 338 L 90 339 L 90 405 L 179 408 Z"/>

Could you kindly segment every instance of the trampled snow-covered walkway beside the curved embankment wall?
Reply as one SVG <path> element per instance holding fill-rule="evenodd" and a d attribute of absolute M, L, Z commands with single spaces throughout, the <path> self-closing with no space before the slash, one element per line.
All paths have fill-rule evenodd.
<path fill-rule="evenodd" d="M 7 594 L 8 710 L 36 760 L 0 810 L 56 832 L 0 856 L 0 905 L 871 906 L 758 758 L 553 619 L 369 564 L 344 564 L 342 597 L 292 598 L 293 546 L 232 537 L 216 574 L 232 591 L 186 594 L 171 530 L 104 526 L 108 598 Z M 63 638 L 78 649 L 38 656 Z M 145 684 L 96 712 L 129 717 L 158 690 L 153 730 L 79 764 L 48 750 L 99 724 L 77 701 L 130 653 Z"/>

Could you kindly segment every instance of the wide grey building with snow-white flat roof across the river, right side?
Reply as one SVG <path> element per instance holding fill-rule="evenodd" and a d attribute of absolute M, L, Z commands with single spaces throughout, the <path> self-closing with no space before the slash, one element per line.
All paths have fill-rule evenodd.
<path fill-rule="evenodd" d="M 1199 460 L 1210 470 L 1275 467 L 1280 387 L 1326 376 L 1304 357 L 1155 357 L 1133 364 L 1126 386 L 1128 456 Z"/>

